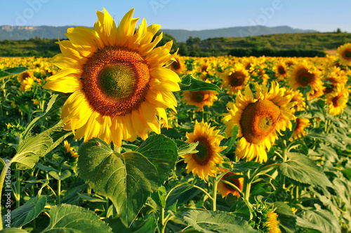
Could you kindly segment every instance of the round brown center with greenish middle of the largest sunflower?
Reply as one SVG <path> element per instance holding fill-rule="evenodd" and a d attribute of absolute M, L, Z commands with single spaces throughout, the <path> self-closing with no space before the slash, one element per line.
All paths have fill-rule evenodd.
<path fill-rule="evenodd" d="M 102 115 L 126 115 L 138 109 L 149 89 L 150 72 L 138 52 L 107 46 L 84 64 L 83 91 Z"/>

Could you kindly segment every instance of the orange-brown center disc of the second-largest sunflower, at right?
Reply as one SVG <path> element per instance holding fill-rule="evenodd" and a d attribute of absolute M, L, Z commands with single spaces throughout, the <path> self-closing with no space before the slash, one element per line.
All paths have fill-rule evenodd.
<path fill-rule="evenodd" d="M 270 100 L 251 103 L 241 114 L 241 132 L 249 143 L 259 144 L 274 130 L 279 116 L 280 108 Z"/>

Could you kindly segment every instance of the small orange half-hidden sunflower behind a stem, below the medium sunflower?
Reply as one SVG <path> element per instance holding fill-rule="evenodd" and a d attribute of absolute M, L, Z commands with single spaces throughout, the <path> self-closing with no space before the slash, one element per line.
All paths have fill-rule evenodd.
<path fill-rule="evenodd" d="M 237 188 L 239 188 L 239 190 L 242 191 L 243 187 L 244 187 L 244 178 L 243 177 L 239 177 L 239 178 L 228 177 L 228 176 L 235 176 L 235 175 L 241 175 L 241 174 L 235 173 L 232 171 L 228 171 L 223 176 L 223 178 L 221 178 L 221 180 L 228 181 L 228 182 L 234 184 L 235 186 L 237 186 Z M 227 185 L 226 183 L 223 183 L 223 182 L 218 182 L 217 190 L 218 190 L 218 193 L 220 195 L 222 195 L 223 198 L 227 197 L 227 195 L 229 195 L 230 193 L 235 197 L 240 197 L 239 192 L 235 188 L 233 188 L 232 186 Z"/>

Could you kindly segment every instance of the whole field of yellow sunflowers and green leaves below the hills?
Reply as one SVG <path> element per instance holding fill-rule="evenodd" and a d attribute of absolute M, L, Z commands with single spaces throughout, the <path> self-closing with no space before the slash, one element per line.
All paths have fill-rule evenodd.
<path fill-rule="evenodd" d="M 183 57 L 97 15 L 0 58 L 0 232 L 351 232 L 351 43 Z"/>

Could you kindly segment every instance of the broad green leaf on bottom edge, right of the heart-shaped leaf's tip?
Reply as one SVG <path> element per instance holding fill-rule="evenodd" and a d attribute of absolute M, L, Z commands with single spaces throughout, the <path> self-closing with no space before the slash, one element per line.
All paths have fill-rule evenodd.
<path fill-rule="evenodd" d="M 257 232 L 243 218 L 223 211 L 187 211 L 183 216 L 185 222 L 199 232 Z"/>

